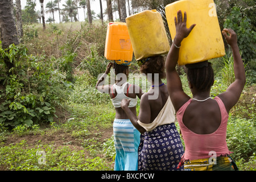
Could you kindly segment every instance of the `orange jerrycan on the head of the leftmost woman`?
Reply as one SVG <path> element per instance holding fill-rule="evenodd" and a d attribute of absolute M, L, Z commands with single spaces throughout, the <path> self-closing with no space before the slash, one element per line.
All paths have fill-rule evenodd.
<path fill-rule="evenodd" d="M 106 33 L 104 56 L 108 60 L 133 59 L 133 47 L 126 23 L 110 22 Z"/>

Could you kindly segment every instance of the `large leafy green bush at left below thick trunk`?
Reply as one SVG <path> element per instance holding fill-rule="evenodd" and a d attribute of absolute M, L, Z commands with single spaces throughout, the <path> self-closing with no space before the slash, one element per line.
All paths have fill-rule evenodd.
<path fill-rule="evenodd" d="M 10 61 L 14 67 L 6 70 Z M 38 122 L 53 122 L 55 106 L 61 104 L 60 95 L 69 84 L 65 76 L 53 71 L 44 57 L 27 55 L 24 46 L 0 48 L 1 89 L 0 123 L 5 126 L 32 126 Z"/>

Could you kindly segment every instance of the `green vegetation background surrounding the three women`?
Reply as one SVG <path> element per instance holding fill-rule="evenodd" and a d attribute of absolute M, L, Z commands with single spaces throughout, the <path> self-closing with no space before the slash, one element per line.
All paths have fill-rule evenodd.
<path fill-rule="evenodd" d="M 52 11 L 46 5 L 53 16 L 59 11 L 57 2 L 52 1 Z M 125 15 L 121 15 L 123 1 L 106 2 L 108 9 L 102 11 L 102 16 L 90 19 L 88 13 L 88 19 L 79 22 L 77 5 L 89 12 L 88 1 L 65 1 L 62 23 L 49 19 L 44 28 L 42 23 L 36 23 L 36 18 L 42 17 L 37 17 L 35 1 L 27 0 L 22 10 L 23 35 L 19 36 L 19 44 L 0 47 L 1 170 L 113 170 L 115 111 L 108 95 L 97 92 L 94 86 L 109 62 L 104 49 L 106 27 L 113 21 L 111 12 L 117 11 L 121 17 L 115 21 L 123 21 Z M 128 2 L 130 14 L 158 10 L 171 44 L 164 7 L 174 1 Z M 221 29 L 229 27 L 237 32 L 246 69 L 245 89 L 229 113 L 228 147 L 240 170 L 255 171 L 255 2 L 214 2 Z M 110 5 L 119 6 L 113 10 Z M 15 13 L 17 9 L 14 10 Z M 103 20 L 103 16 L 108 20 Z M 234 80 L 233 57 L 225 46 L 226 56 L 210 60 L 216 75 L 212 97 L 224 92 Z M 139 72 L 135 60 L 130 72 Z M 185 92 L 190 94 L 182 67 L 179 73 Z M 176 126 L 179 128 L 177 123 Z"/>

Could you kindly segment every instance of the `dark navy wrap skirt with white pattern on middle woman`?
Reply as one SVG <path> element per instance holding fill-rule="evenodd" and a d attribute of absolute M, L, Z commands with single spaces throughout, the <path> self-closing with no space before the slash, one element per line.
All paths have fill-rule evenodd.
<path fill-rule="evenodd" d="M 161 125 L 141 134 L 138 171 L 183 171 L 179 166 L 183 144 L 174 123 Z"/>

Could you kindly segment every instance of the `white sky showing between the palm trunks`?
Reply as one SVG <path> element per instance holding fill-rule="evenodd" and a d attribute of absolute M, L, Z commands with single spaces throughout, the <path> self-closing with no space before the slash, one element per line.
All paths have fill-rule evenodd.
<path fill-rule="evenodd" d="M 54 0 L 44 0 L 44 11 L 46 10 L 46 4 L 49 1 L 54 1 Z M 60 1 L 60 9 L 63 9 L 62 5 L 65 4 L 65 1 L 67 1 L 67 0 L 61 0 Z M 14 2 L 15 2 L 15 0 L 14 0 Z M 22 9 L 24 9 L 24 7 L 26 6 L 26 2 L 27 1 L 26 0 L 20 0 L 20 2 L 21 2 Z M 101 9 L 100 9 L 100 1 L 99 0 L 94 0 L 94 1 L 90 0 L 90 9 L 94 10 L 94 12 L 96 14 L 99 14 L 100 11 L 101 11 Z M 102 0 L 102 9 L 103 9 L 103 11 L 106 9 L 106 1 L 105 0 Z M 41 5 L 40 5 L 40 1 L 39 0 L 36 0 L 35 10 L 36 11 L 37 10 L 39 10 L 39 11 L 41 10 Z M 85 11 L 85 13 L 86 13 L 86 11 Z M 113 13 L 114 19 L 116 17 L 115 15 L 118 15 L 118 13 Z M 49 17 L 52 18 L 52 13 L 44 13 L 44 16 L 45 16 L 45 18 L 47 20 Z M 54 19 L 55 19 L 56 23 L 60 22 L 60 20 L 59 20 L 59 12 L 58 11 L 56 11 L 54 13 Z M 107 17 L 105 16 L 104 19 L 107 19 Z M 82 8 L 79 9 L 79 20 L 80 20 L 80 22 L 84 21 L 84 9 L 82 9 Z"/>

